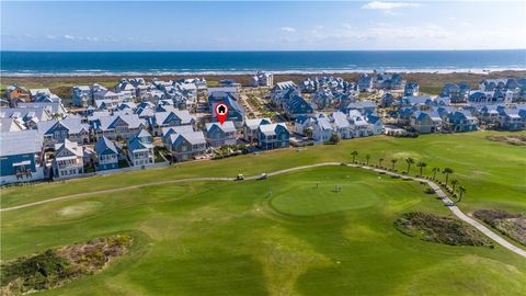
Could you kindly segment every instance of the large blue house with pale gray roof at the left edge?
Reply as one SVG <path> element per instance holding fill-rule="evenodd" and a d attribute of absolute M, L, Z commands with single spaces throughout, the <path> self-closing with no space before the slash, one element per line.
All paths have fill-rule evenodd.
<path fill-rule="evenodd" d="M 0 184 L 44 179 L 43 155 L 38 132 L 0 133 Z"/>

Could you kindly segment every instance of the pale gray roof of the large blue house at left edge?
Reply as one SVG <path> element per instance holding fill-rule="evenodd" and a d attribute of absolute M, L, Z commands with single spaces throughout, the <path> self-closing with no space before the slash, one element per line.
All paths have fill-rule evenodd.
<path fill-rule="evenodd" d="M 0 156 L 16 156 L 42 151 L 43 138 L 36 130 L 0 133 Z"/>

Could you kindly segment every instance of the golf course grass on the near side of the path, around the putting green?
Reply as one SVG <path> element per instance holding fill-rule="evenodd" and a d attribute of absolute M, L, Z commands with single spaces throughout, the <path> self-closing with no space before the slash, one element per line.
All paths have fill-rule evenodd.
<path fill-rule="evenodd" d="M 43 295 L 524 292 L 526 261 L 500 246 L 451 247 L 395 229 L 407 212 L 450 215 L 424 189 L 334 166 L 261 181 L 94 194 L 2 213 L 1 255 L 9 260 L 111 234 L 137 238 L 132 252 L 102 273 Z"/>

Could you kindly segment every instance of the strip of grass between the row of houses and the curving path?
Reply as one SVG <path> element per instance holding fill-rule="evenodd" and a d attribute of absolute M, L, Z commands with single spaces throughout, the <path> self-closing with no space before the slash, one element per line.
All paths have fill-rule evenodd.
<path fill-rule="evenodd" d="M 514 133 L 526 135 L 526 133 Z M 20 205 L 72 193 L 93 192 L 104 189 L 163 180 L 192 177 L 235 177 L 260 174 L 284 168 L 321 161 L 351 161 L 351 151 L 359 152 L 364 161 L 370 155 L 370 163 L 384 158 L 390 166 L 396 158 L 397 168 L 407 168 L 404 159 L 425 161 L 424 174 L 430 175 L 434 167 L 455 170 L 450 179 L 467 189 L 460 207 L 467 212 L 480 207 L 496 207 L 506 210 L 526 210 L 526 149 L 504 143 L 491 141 L 488 135 L 505 133 L 467 133 L 451 135 L 423 135 L 419 138 L 393 138 L 376 136 L 342 140 L 339 145 L 306 147 L 299 150 L 285 149 L 259 155 L 239 156 L 214 161 L 178 163 L 168 168 L 126 172 L 107 177 L 93 177 L 25 187 L 2 189 L 1 207 Z M 412 174 L 418 173 L 413 166 Z M 438 174 L 444 180 L 443 174 Z"/>

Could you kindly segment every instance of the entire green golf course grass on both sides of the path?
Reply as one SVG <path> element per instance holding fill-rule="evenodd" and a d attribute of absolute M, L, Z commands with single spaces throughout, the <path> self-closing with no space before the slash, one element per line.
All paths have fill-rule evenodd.
<path fill-rule="evenodd" d="M 217 161 L 2 189 L 1 207 L 93 193 L 1 213 L 2 262 L 96 237 L 128 234 L 125 253 L 95 275 L 43 295 L 521 295 L 526 260 L 503 247 L 448 246 L 393 227 L 404 213 L 455 217 L 426 186 L 359 168 L 328 166 L 251 181 L 322 161 L 405 158 L 451 168 L 459 207 L 526 210 L 526 149 L 470 133 L 370 137 Z M 513 135 L 526 135 L 515 133 Z M 410 174 L 418 174 L 414 164 Z M 437 174 L 444 180 L 445 175 Z M 468 226 L 469 227 L 469 226 Z M 523 246 L 524 248 L 524 246 Z"/>

